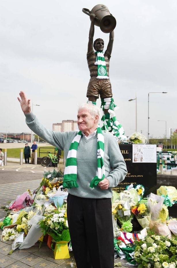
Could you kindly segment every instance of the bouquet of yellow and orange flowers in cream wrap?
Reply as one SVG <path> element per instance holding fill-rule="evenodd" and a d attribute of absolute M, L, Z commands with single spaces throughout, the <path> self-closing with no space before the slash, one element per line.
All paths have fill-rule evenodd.
<path fill-rule="evenodd" d="M 136 216 L 142 228 L 149 227 L 149 223 L 151 221 L 151 214 L 146 204 L 137 203 L 131 208 L 131 211 Z"/>

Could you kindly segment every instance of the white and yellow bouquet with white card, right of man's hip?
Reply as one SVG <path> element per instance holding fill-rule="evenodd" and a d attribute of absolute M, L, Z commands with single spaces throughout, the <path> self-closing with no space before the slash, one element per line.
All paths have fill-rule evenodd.
<path fill-rule="evenodd" d="M 131 220 L 133 213 L 130 207 L 135 205 L 134 197 L 130 191 L 125 190 L 117 194 L 117 199 L 112 204 L 112 214 L 121 223 L 121 229 L 125 232 L 132 231 Z"/>

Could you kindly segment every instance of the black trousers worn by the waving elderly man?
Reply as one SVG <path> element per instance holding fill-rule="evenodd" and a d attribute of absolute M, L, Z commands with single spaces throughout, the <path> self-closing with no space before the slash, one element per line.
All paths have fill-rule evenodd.
<path fill-rule="evenodd" d="M 113 268 L 111 199 L 68 194 L 67 217 L 77 268 Z"/>

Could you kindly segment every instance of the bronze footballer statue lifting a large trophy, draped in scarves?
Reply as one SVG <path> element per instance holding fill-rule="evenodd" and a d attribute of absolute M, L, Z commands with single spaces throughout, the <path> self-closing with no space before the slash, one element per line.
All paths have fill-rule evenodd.
<path fill-rule="evenodd" d="M 115 18 L 109 9 L 102 4 L 96 5 L 92 10 L 83 8 L 85 14 L 90 16 L 91 25 L 87 50 L 87 63 L 90 71 L 90 81 L 87 88 L 88 103 L 96 105 L 96 100 L 101 98 L 101 107 L 104 111 L 102 116 L 102 130 L 109 131 L 119 139 L 125 139 L 124 130 L 116 119 L 111 82 L 109 79 L 109 61 L 114 42 Z M 101 38 L 93 41 L 94 25 L 99 26 L 104 33 L 109 33 L 109 43 L 104 50 L 104 40 Z M 94 51 L 95 50 L 95 51 Z"/>

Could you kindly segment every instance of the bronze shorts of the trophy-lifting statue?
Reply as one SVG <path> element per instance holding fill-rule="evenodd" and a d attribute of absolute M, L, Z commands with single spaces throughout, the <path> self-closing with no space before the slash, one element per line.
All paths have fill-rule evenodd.
<path fill-rule="evenodd" d="M 95 96 L 98 99 L 99 94 L 101 99 L 113 97 L 111 82 L 109 79 L 98 79 L 92 76 L 87 88 L 87 98 Z"/>

